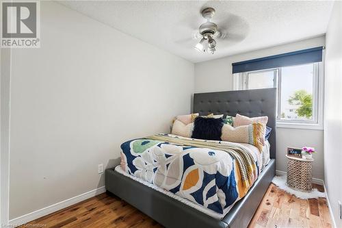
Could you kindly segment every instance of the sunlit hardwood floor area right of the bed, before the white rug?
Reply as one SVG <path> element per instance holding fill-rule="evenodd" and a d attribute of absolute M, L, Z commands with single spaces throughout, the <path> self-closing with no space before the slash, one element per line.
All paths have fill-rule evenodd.
<path fill-rule="evenodd" d="M 324 192 L 323 186 L 313 187 Z M 271 183 L 248 227 L 318 228 L 331 224 L 326 198 L 298 199 Z"/>

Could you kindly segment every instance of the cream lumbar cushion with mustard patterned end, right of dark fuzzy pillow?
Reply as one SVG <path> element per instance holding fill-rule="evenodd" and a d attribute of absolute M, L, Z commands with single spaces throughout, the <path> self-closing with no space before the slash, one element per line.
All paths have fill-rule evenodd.
<path fill-rule="evenodd" d="M 263 142 L 265 140 L 263 135 L 262 123 L 252 123 L 250 125 L 243 125 L 239 127 L 232 127 L 224 124 L 222 127 L 222 141 L 248 143 L 257 147 L 259 151 L 263 150 Z"/>

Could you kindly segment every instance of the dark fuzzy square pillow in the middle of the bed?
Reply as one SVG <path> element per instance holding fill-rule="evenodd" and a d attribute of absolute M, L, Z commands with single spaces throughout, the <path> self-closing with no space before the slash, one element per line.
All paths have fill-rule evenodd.
<path fill-rule="evenodd" d="M 221 140 L 223 125 L 224 122 L 222 118 L 197 117 L 194 121 L 192 138 L 203 140 Z"/>

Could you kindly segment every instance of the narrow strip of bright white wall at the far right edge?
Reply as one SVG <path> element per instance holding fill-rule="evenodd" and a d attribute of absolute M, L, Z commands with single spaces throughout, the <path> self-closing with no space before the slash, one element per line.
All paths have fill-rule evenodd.
<path fill-rule="evenodd" d="M 336 227 L 342 227 L 342 2 L 335 1 L 326 33 L 326 93 L 324 169 L 330 208 Z"/>

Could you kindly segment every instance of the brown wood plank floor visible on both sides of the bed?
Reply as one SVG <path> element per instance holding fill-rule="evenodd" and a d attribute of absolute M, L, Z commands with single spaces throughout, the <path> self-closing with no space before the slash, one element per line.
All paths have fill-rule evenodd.
<path fill-rule="evenodd" d="M 315 186 L 323 191 L 322 186 Z M 36 227 L 162 227 L 131 205 L 107 193 L 38 218 Z M 249 227 L 332 227 L 325 198 L 298 199 L 271 184 Z"/>

